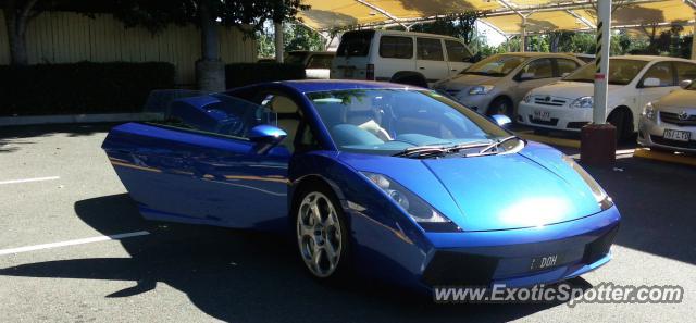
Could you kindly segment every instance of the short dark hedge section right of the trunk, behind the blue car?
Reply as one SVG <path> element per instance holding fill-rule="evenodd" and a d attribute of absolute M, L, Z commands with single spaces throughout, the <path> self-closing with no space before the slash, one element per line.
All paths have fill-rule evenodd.
<path fill-rule="evenodd" d="M 262 82 L 302 79 L 304 67 L 281 63 L 234 63 L 225 66 L 227 88 Z"/>

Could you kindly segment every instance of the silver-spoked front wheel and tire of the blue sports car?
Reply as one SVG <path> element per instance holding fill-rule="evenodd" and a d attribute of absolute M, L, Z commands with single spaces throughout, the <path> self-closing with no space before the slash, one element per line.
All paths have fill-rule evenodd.
<path fill-rule="evenodd" d="M 340 204 L 323 186 L 301 194 L 296 214 L 299 254 L 320 281 L 337 281 L 348 266 L 349 235 Z"/>

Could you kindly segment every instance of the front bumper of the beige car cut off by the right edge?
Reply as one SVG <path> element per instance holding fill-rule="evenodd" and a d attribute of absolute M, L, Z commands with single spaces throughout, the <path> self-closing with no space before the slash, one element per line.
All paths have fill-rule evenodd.
<path fill-rule="evenodd" d="M 687 142 L 664 139 L 663 135 L 666 129 L 691 132 L 692 140 Z M 652 121 L 642 115 L 641 122 L 638 123 L 638 144 L 644 147 L 696 152 L 696 126 L 679 126 L 661 121 Z"/>

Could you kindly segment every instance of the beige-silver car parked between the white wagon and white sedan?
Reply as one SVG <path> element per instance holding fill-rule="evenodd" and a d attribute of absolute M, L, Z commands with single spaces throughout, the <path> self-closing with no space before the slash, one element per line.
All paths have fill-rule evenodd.
<path fill-rule="evenodd" d="M 495 54 L 435 84 L 434 88 L 474 111 L 513 117 L 515 104 L 526 92 L 556 82 L 583 64 L 573 57 L 558 53 Z"/>

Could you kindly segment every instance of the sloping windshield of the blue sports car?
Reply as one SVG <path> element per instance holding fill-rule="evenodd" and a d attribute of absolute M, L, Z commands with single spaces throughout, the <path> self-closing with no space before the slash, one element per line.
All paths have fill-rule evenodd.
<path fill-rule="evenodd" d="M 490 144 L 510 136 L 435 91 L 351 89 L 307 96 L 339 150 L 393 154 L 422 146 Z M 520 144 L 513 141 L 506 149 Z"/>

